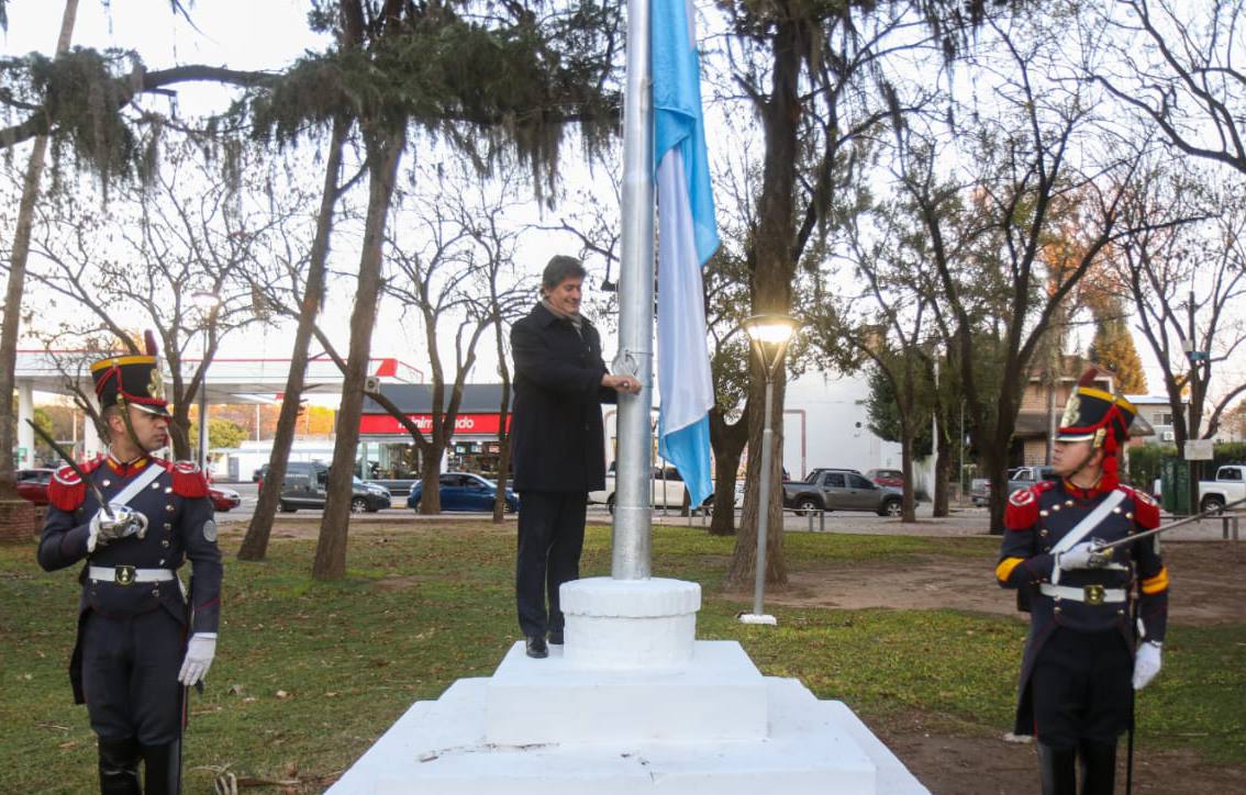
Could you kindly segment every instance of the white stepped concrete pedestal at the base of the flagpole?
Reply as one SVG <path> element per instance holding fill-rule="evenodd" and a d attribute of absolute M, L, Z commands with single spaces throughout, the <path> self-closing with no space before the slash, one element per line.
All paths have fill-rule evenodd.
<path fill-rule="evenodd" d="M 329 791 L 487 795 L 917 795 L 840 702 L 697 642 L 700 588 L 567 583 L 566 647 L 516 643 L 493 677 L 417 702 Z M 655 664 L 653 664 L 655 663 Z"/>

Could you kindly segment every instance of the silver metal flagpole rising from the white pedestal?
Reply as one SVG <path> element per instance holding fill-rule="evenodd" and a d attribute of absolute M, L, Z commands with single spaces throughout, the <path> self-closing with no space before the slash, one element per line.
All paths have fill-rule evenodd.
<path fill-rule="evenodd" d="M 628 0 L 623 105 L 623 223 L 619 353 L 613 370 L 640 381 L 619 395 L 612 567 L 614 579 L 649 578 L 649 475 L 653 450 L 653 98 L 649 0 Z"/>

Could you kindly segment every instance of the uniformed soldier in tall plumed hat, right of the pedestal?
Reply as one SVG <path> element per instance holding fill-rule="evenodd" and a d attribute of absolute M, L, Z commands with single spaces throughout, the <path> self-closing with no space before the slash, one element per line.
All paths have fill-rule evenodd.
<path fill-rule="evenodd" d="M 1038 740 L 1043 795 L 1077 793 L 1078 768 L 1082 795 L 1113 793 L 1116 739 L 1134 690 L 1159 673 L 1168 622 L 1158 536 L 1098 551 L 1158 527 L 1160 511 L 1119 482 L 1118 450 L 1138 411 L 1095 389 L 1095 376 L 1082 376 L 1065 407 L 1052 461 L 1059 480 L 1009 497 L 996 568 L 1029 606 L 1014 733 Z"/>

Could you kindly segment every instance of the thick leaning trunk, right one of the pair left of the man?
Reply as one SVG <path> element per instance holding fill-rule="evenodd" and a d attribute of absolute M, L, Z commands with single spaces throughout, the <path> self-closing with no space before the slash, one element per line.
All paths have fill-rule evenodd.
<path fill-rule="evenodd" d="M 385 250 L 385 223 L 394 197 L 394 179 L 406 130 L 365 130 L 368 152 L 368 218 L 364 222 L 364 244 L 359 257 L 359 289 L 355 309 L 350 315 L 350 355 L 341 384 L 338 409 L 338 439 L 329 470 L 328 498 L 320 520 L 312 576 L 315 579 L 341 579 L 346 576 L 346 533 L 350 530 L 350 500 L 354 492 L 355 455 L 359 447 L 359 415 L 364 406 L 364 379 L 371 355 L 373 326 L 380 299 L 381 265 Z"/>

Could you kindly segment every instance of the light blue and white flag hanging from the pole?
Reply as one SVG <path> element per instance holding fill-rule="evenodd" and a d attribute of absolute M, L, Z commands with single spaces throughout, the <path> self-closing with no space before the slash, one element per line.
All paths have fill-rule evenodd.
<path fill-rule="evenodd" d="M 690 0 L 653 0 L 653 157 L 658 192 L 658 454 L 675 465 L 690 505 L 713 491 L 701 267 L 718 248 L 700 64 Z"/>

